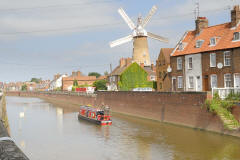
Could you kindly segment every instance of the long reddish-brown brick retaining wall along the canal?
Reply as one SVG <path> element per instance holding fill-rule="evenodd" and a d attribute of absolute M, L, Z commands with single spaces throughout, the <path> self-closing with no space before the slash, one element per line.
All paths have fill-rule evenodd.
<path fill-rule="evenodd" d="M 98 92 L 96 97 L 28 92 L 8 95 L 36 96 L 75 106 L 104 103 L 114 112 L 240 137 L 240 131 L 224 130 L 218 116 L 203 107 L 207 98 L 205 92 Z M 233 108 L 233 114 L 240 120 L 239 106 Z"/>

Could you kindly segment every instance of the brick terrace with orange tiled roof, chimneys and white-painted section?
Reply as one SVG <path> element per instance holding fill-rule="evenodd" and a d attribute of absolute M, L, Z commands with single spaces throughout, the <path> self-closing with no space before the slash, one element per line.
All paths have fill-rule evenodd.
<path fill-rule="evenodd" d="M 240 9 L 231 22 L 208 26 L 198 17 L 196 29 L 187 31 L 171 54 L 173 91 L 211 91 L 240 87 Z"/>

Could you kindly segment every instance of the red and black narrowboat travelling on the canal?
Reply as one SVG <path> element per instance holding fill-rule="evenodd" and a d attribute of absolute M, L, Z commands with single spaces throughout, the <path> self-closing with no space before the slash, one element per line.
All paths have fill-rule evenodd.
<path fill-rule="evenodd" d="M 109 114 L 109 107 L 96 109 L 91 106 L 80 106 L 78 120 L 83 119 L 98 125 L 111 125 L 112 120 Z"/>

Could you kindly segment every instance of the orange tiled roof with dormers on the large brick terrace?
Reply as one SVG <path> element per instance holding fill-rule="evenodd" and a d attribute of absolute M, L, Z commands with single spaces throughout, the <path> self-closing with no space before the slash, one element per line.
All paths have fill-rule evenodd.
<path fill-rule="evenodd" d="M 189 31 L 182 41 L 183 43 L 186 43 L 185 48 L 182 51 L 176 48 L 171 56 L 188 55 L 240 47 L 240 41 L 233 41 L 234 32 L 240 32 L 240 25 L 238 25 L 236 28 L 231 28 L 231 23 L 210 26 L 203 29 L 199 35 L 196 35 L 195 30 Z M 210 46 L 210 39 L 213 37 L 217 38 L 217 43 L 215 46 Z M 200 48 L 196 48 L 197 40 L 204 40 Z"/>

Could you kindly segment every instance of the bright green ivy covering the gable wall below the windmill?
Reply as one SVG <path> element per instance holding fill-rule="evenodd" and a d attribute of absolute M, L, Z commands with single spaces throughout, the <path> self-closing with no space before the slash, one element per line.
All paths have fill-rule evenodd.
<path fill-rule="evenodd" d="M 118 82 L 121 91 L 131 91 L 134 88 L 153 88 L 153 82 L 147 80 L 147 72 L 137 63 L 131 64 L 121 75 Z"/>

